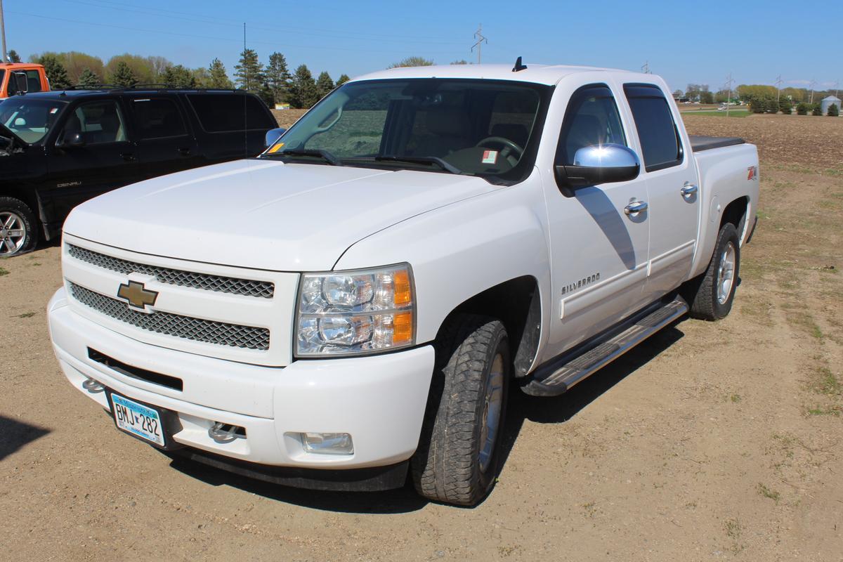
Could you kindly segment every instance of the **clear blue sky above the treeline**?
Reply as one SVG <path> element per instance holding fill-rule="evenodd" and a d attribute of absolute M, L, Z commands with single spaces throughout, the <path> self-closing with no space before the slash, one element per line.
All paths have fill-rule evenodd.
<path fill-rule="evenodd" d="M 843 81 L 843 3 L 766 0 L 683 2 L 268 2 L 240 0 L 4 0 L 10 49 L 130 52 L 207 67 L 217 56 L 229 74 L 247 44 L 266 62 L 272 51 L 291 71 L 356 76 L 405 56 L 438 63 L 476 61 L 479 24 L 488 43 L 483 62 L 584 64 L 637 70 L 645 62 L 671 88 L 708 83 L 729 72 L 739 83 L 833 88 Z M 835 7 L 836 6 L 836 7 Z M 827 57 L 827 58 L 824 58 Z"/>

